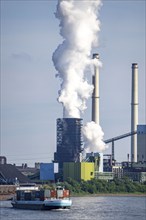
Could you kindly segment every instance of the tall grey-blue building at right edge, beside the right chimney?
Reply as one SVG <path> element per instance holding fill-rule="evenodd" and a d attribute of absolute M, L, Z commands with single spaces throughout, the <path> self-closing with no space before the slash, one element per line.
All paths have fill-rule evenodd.
<path fill-rule="evenodd" d="M 137 162 L 146 163 L 146 125 L 137 126 Z"/>

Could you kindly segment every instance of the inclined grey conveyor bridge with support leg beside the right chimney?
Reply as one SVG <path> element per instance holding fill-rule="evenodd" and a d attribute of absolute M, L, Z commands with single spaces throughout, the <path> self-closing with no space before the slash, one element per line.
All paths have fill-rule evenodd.
<path fill-rule="evenodd" d="M 114 149 L 115 147 L 114 147 L 114 142 L 115 142 L 115 141 L 118 141 L 118 140 L 120 140 L 120 139 L 129 137 L 129 136 L 134 136 L 135 134 L 137 134 L 137 131 L 132 131 L 132 132 L 129 132 L 129 133 L 126 133 L 126 134 L 123 134 L 123 135 L 119 135 L 119 136 L 117 136 L 117 137 L 113 137 L 113 138 L 110 138 L 110 139 L 107 139 L 107 140 L 104 141 L 106 144 L 112 143 L 112 161 L 115 160 L 115 149 Z"/>

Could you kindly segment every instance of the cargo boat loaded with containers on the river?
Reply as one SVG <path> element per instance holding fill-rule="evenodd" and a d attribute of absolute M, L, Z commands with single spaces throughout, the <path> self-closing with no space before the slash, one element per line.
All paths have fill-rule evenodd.
<path fill-rule="evenodd" d="M 35 184 L 23 184 L 16 187 L 16 195 L 11 204 L 17 209 L 70 209 L 72 200 L 69 190 L 62 186 L 49 190 Z"/>

